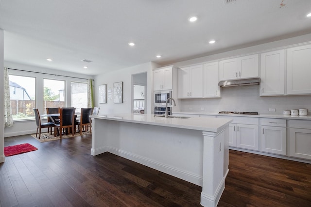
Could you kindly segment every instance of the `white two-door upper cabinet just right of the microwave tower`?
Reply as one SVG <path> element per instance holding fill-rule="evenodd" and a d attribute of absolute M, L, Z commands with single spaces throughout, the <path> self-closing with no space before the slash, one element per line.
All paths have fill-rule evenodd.
<path fill-rule="evenodd" d="M 183 67 L 177 72 L 178 98 L 203 97 L 203 65 Z"/>

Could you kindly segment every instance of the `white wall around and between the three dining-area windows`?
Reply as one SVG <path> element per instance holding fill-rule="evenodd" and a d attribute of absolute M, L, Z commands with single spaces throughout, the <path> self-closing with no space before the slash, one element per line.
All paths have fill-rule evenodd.
<path fill-rule="evenodd" d="M 90 79 L 93 78 L 92 76 L 86 76 L 78 73 L 69 73 L 59 70 L 52 70 L 48 68 L 42 68 L 42 67 L 35 67 L 31 65 L 24 65 L 24 64 L 17 64 L 17 63 L 11 63 L 11 62 L 4 62 L 4 66 L 7 68 L 13 68 L 13 69 L 19 69 L 19 70 L 27 70 L 27 71 L 33 71 L 33 72 L 39 72 L 39 73 L 33 73 L 33 72 L 24 72 L 24 71 L 17 71 L 17 70 L 9 70 L 10 75 L 22 75 L 22 76 L 29 76 L 29 77 L 35 77 L 36 78 L 36 106 L 40 112 L 40 114 L 43 113 L 43 78 L 48 79 L 55 79 L 55 80 L 65 80 L 66 81 L 66 106 L 71 106 L 71 81 L 76 82 L 87 82 L 87 80 L 83 79 Z M 47 75 L 47 74 L 41 74 L 41 73 L 48 73 L 48 74 L 57 74 L 60 76 L 55 75 Z M 69 77 L 76 77 L 76 78 L 69 78 L 69 77 L 63 77 L 63 76 L 69 76 Z M 1 76 L 3 77 L 3 75 Z M 83 79 L 79 79 L 83 78 Z M 3 87 L 3 84 L 2 86 Z M 41 101 L 42 100 L 42 101 Z M 3 103 L 3 101 L 1 102 Z M 2 105 L 3 106 L 3 105 Z M 2 107 L 3 108 L 3 107 Z M 2 112 L 3 113 L 3 112 Z M 45 129 L 42 129 L 45 131 Z M 23 134 L 33 134 L 36 131 L 36 125 L 35 120 L 27 120 L 27 121 L 15 121 L 13 127 L 5 127 L 4 128 L 4 137 L 11 137 L 11 136 L 17 136 L 17 135 L 23 135 Z"/>

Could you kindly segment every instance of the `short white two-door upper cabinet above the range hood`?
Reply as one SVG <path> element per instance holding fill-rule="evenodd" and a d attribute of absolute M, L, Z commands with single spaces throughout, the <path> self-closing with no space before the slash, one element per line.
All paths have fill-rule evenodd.
<path fill-rule="evenodd" d="M 259 55 L 248 55 L 219 62 L 219 79 L 233 80 L 259 76 Z"/>

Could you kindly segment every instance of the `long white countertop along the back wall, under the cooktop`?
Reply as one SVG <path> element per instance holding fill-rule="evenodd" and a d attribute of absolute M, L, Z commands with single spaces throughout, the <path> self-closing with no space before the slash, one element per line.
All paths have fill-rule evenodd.
<path fill-rule="evenodd" d="M 274 115 L 274 114 L 259 114 L 259 115 L 247 115 L 247 114 L 232 114 L 232 113 L 217 113 L 217 112 L 173 112 L 173 114 L 189 114 L 189 115 L 212 115 L 212 116 L 240 116 L 240 117 L 254 117 L 254 118 L 273 118 L 273 119 L 296 119 L 296 120 L 311 120 L 311 115 L 299 116 L 299 115 Z"/>

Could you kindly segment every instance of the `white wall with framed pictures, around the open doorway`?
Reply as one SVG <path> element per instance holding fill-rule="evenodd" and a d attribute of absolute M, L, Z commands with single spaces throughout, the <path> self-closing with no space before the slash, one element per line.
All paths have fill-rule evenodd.
<path fill-rule="evenodd" d="M 159 67 L 157 64 L 148 62 L 145 64 L 135 65 L 129 68 L 112 71 L 109 73 L 101 74 L 95 77 L 95 105 L 101 107 L 99 114 L 117 114 L 117 113 L 130 113 L 132 111 L 133 102 L 133 83 L 132 75 L 142 72 L 147 72 L 147 94 L 146 99 L 148 103 L 153 103 L 153 73 L 152 69 Z M 108 89 L 113 90 L 113 83 L 123 81 L 123 103 L 113 103 L 113 99 L 108 99 Z M 99 85 L 107 84 L 107 103 L 98 103 L 98 87 Z M 148 104 L 147 111 L 151 111 L 151 106 Z M 149 112 L 148 112 L 149 113 Z"/>

